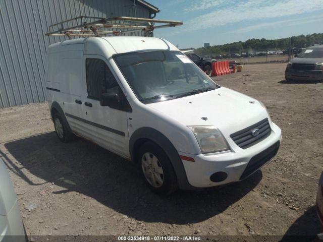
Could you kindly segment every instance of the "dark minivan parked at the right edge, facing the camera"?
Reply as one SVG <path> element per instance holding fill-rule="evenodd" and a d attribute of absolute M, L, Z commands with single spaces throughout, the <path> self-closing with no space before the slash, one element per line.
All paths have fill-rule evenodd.
<path fill-rule="evenodd" d="M 313 45 L 296 55 L 286 67 L 286 81 L 323 81 L 323 45 Z"/>

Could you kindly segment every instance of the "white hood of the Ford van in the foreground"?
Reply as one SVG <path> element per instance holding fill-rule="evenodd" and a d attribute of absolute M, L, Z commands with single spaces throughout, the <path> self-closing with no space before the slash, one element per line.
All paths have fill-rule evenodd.
<path fill-rule="evenodd" d="M 224 87 L 147 105 L 185 126 L 216 126 L 226 138 L 268 117 L 257 100 Z"/>

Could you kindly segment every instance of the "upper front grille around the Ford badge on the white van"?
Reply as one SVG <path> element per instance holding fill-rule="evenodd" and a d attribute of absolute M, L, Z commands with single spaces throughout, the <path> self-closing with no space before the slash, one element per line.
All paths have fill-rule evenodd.
<path fill-rule="evenodd" d="M 258 129 L 257 135 L 252 135 L 252 131 Z M 257 144 L 261 140 L 265 139 L 271 134 L 271 127 L 268 123 L 268 118 L 262 119 L 260 122 L 249 126 L 243 130 L 230 135 L 230 138 L 236 143 L 240 148 L 246 149 L 252 145 Z"/>

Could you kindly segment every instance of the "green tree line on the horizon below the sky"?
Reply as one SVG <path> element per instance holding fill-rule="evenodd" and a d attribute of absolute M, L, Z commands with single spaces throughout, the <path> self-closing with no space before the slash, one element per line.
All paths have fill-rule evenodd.
<path fill-rule="evenodd" d="M 287 49 L 289 45 L 298 48 L 304 48 L 315 44 L 315 38 L 313 37 L 323 37 L 323 33 L 313 33 L 308 35 L 298 35 L 291 38 L 281 38 L 281 39 L 248 39 L 247 41 L 239 41 L 222 45 L 213 45 L 206 48 L 201 47 L 195 49 L 195 53 L 200 55 L 207 54 L 224 54 L 228 52 L 239 52 L 248 51 L 252 52 L 255 50 L 271 50 L 271 49 Z M 317 38 L 316 38 L 317 39 Z M 323 38 L 321 38 L 321 41 Z"/>

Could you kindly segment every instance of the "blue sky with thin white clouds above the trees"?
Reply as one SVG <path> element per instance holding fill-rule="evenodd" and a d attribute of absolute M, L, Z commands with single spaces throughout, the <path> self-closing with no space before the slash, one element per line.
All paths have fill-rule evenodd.
<path fill-rule="evenodd" d="M 323 33 L 323 0 L 147 0 L 156 19 L 180 20 L 179 27 L 156 29 L 155 37 L 178 48 L 198 48 L 251 38 L 278 39 Z"/>

